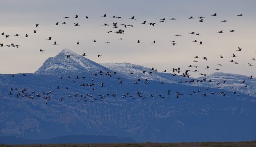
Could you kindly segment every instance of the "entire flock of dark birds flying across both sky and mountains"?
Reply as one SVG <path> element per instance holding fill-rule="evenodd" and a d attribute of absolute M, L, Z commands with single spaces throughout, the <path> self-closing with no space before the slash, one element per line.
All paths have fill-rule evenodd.
<path fill-rule="evenodd" d="M 217 13 L 214 13 L 214 14 L 212 14 L 211 16 L 217 16 Z M 243 16 L 243 15 L 242 15 L 242 14 L 239 14 L 239 15 L 237 15 L 237 16 Z M 108 17 L 108 16 L 107 16 L 107 14 L 104 14 L 104 15 L 101 16 L 101 17 L 106 18 L 106 17 Z M 68 18 L 70 18 L 70 17 L 67 17 L 67 16 L 64 17 L 64 19 L 68 19 Z M 78 16 L 78 15 L 75 15 L 75 17 L 73 17 L 73 18 L 74 18 L 74 19 L 79 19 L 79 16 Z M 89 17 L 89 16 L 84 16 L 84 18 L 89 19 L 90 17 Z M 111 18 L 123 19 L 122 17 L 116 17 L 116 16 L 112 16 Z M 203 19 L 204 19 L 205 17 L 200 16 L 200 17 L 198 17 L 198 18 L 199 18 L 199 21 L 197 21 L 197 23 L 203 23 L 203 22 L 204 22 Z M 136 20 L 136 19 L 135 19 L 135 16 L 132 16 L 132 17 L 129 18 L 129 19 L 131 19 L 131 20 Z M 195 18 L 194 18 L 193 16 L 191 16 L 191 17 L 188 17 L 188 19 L 195 19 Z M 166 19 L 166 18 L 162 18 L 162 19 L 160 19 L 159 23 L 166 23 L 167 20 L 168 20 L 168 19 Z M 169 20 L 175 21 L 176 19 L 175 19 L 175 18 L 170 18 Z M 227 20 L 222 20 L 221 22 L 225 23 L 225 22 L 227 22 Z M 53 25 L 54 25 L 54 26 L 59 26 L 59 25 L 61 25 L 61 24 L 67 25 L 67 23 L 66 23 L 65 21 L 62 22 L 62 23 L 56 22 L 56 23 L 53 24 Z M 155 26 L 155 25 L 157 25 L 156 22 L 149 22 L 149 23 L 147 23 L 147 21 L 143 21 L 143 22 L 141 22 L 141 24 L 142 24 L 142 25 L 147 25 L 147 24 L 149 24 L 150 26 Z M 36 28 L 40 26 L 40 24 L 34 24 L 34 25 L 35 25 Z M 79 23 L 74 22 L 74 23 L 72 24 L 72 26 L 80 26 L 80 25 L 79 25 Z M 104 24 L 102 24 L 102 26 L 110 26 L 110 25 L 104 23 Z M 123 26 L 124 28 L 127 28 L 127 27 L 134 27 L 134 24 L 120 24 L 120 26 L 118 26 L 118 25 L 117 25 L 117 22 L 113 22 L 113 25 L 111 25 L 112 28 L 119 28 L 119 27 L 121 27 L 121 26 Z M 32 30 L 32 32 L 35 33 L 35 34 L 36 34 L 38 31 L 39 31 L 39 30 Z M 235 30 L 230 30 L 229 32 L 230 32 L 230 33 L 233 33 L 233 32 L 235 32 Z M 124 30 L 123 30 L 123 29 L 118 29 L 118 31 L 107 31 L 107 33 L 124 34 Z M 217 33 L 224 33 L 224 31 L 221 30 L 221 31 L 218 31 Z M 200 33 L 195 33 L 195 32 L 190 32 L 189 34 L 192 34 L 192 35 L 195 35 L 195 36 L 200 36 L 200 35 L 201 35 Z M 5 34 L 4 32 L 2 32 L 1 35 L 2 35 L 2 36 L 5 36 L 6 38 L 9 38 L 9 36 L 11 36 L 11 35 Z M 19 34 L 15 34 L 14 36 L 17 37 L 17 36 L 20 36 L 20 35 L 19 35 Z M 182 35 L 181 35 L 181 34 L 176 34 L 175 36 L 182 36 Z M 23 37 L 24 37 L 24 38 L 28 38 L 29 36 L 28 36 L 28 34 L 25 34 Z M 52 37 L 48 37 L 48 39 L 46 39 L 46 40 L 53 41 L 53 40 L 52 40 Z M 120 38 L 119 40 L 123 40 L 123 38 Z M 95 39 L 94 39 L 93 41 L 91 41 L 91 42 L 97 43 L 97 41 L 96 41 Z M 172 41 L 170 41 L 170 42 L 171 42 L 171 44 L 172 44 L 173 46 L 175 46 L 175 44 L 177 44 L 177 42 L 174 41 L 174 40 L 172 40 Z M 203 45 L 203 42 L 202 42 L 202 41 L 194 40 L 194 41 L 192 41 L 192 42 L 197 42 L 198 45 Z M 111 44 L 111 42 L 105 42 L 105 43 L 106 43 L 106 44 Z M 141 42 L 140 40 L 137 40 L 137 42 L 135 42 L 135 43 L 136 43 L 136 44 L 142 44 L 142 42 Z M 76 44 L 76 45 L 81 45 L 81 43 L 80 43 L 79 41 L 77 41 L 77 42 L 74 43 L 74 44 Z M 154 40 L 151 44 L 157 44 L 157 42 Z M 58 45 L 58 44 L 57 44 L 57 41 L 54 41 L 52 45 Z M 8 44 L 8 45 L 4 45 L 3 43 L 1 43 L 1 44 L 0 44 L 0 47 L 3 47 L 3 46 L 15 47 L 15 48 L 21 47 L 20 45 L 14 44 L 14 43 L 11 43 L 11 44 Z M 43 52 L 44 50 L 43 50 L 43 49 L 39 49 L 39 51 L 40 51 L 40 52 Z M 239 54 L 239 52 L 242 51 L 242 48 L 238 47 L 238 49 L 237 49 L 236 51 L 237 51 L 237 54 Z M 71 56 L 71 55 L 67 55 L 67 58 L 69 58 L 70 56 Z M 86 55 L 86 53 L 83 53 L 82 56 L 87 56 L 87 55 Z M 102 55 L 101 55 L 101 54 L 97 54 L 96 56 L 101 57 Z M 237 57 L 237 56 L 236 56 L 236 54 L 233 53 L 233 54 L 231 55 L 231 58 L 232 58 L 232 59 L 230 60 L 230 62 L 232 62 L 232 63 L 234 63 L 234 64 L 239 64 L 239 62 L 235 61 L 235 57 Z M 197 59 L 199 59 L 199 58 L 203 59 L 204 61 L 207 61 L 207 57 L 206 57 L 206 56 L 203 56 L 203 57 L 195 56 L 194 58 L 196 58 L 196 59 L 193 61 L 193 62 L 195 62 L 195 63 L 200 62 L 200 61 L 197 60 Z M 223 58 L 224 58 L 224 56 L 220 55 L 219 59 L 221 60 L 221 59 L 223 59 Z M 233 59 L 233 58 L 234 58 L 234 59 Z M 251 60 L 252 60 L 252 61 L 255 61 L 255 58 L 252 58 Z M 217 65 L 218 65 L 218 66 L 222 66 L 222 64 L 217 64 Z M 248 66 L 253 66 L 253 64 L 248 63 Z M 188 67 L 197 68 L 198 66 L 189 65 Z M 206 67 L 205 67 L 205 69 L 210 69 L 210 68 L 211 68 L 210 66 L 206 66 Z M 219 68 L 216 68 L 215 70 L 219 71 L 220 69 L 219 69 Z M 192 71 L 192 72 L 199 72 L 197 69 L 194 69 L 194 70 L 186 69 L 186 70 L 184 70 L 184 72 L 182 72 L 182 70 L 180 70 L 179 67 L 178 67 L 177 69 L 175 69 L 175 68 L 171 69 L 171 73 L 173 73 L 173 74 L 172 74 L 173 76 L 176 76 L 177 74 L 179 74 L 180 72 L 182 72 L 182 74 L 181 74 L 180 76 L 189 77 L 189 71 Z M 145 74 L 145 72 L 146 72 L 146 71 L 142 71 L 143 74 Z M 149 74 L 152 74 L 153 72 L 157 72 L 157 69 L 152 68 L 152 71 L 148 71 Z M 164 70 L 163 72 L 167 72 L 167 70 Z M 176 74 L 176 73 L 177 73 L 177 74 Z M 102 71 L 100 71 L 99 74 L 102 75 Z M 113 74 L 116 74 L 116 72 L 114 72 Z M 134 74 L 134 73 L 131 72 L 130 74 Z M 26 76 L 25 74 L 23 74 L 23 75 Z M 110 77 L 112 76 L 112 74 L 111 74 L 109 71 L 106 72 L 106 75 L 108 75 L 108 76 L 110 76 Z M 203 73 L 201 73 L 200 75 L 206 76 L 206 74 L 203 74 Z M 94 73 L 94 76 L 97 76 L 97 73 Z M 14 77 L 14 75 L 13 75 L 13 77 Z M 70 78 L 70 77 L 68 77 L 68 78 Z M 83 77 L 83 78 L 84 78 L 84 77 Z M 249 78 L 252 78 L 252 76 L 250 76 Z M 62 78 L 61 78 L 61 79 L 62 79 Z M 78 79 L 78 76 L 77 76 L 77 79 Z M 120 78 L 118 78 L 118 80 L 120 80 Z M 92 82 L 93 82 L 93 81 L 94 81 L 94 80 L 92 80 Z M 134 83 L 135 83 L 135 84 L 138 84 L 139 81 L 142 81 L 142 80 L 141 80 L 141 79 L 137 79 L 137 81 L 134 82 Z M 211 82 L 211 79 L 209 79 L 209 80 L 207 80 L 207 81 L 208 81 L 208 82 Z M 72 82 L 75 82 L 75 81 L 72 80 Z M 194 80 L 194 79 L 192 79 L 192 80 L 190 80 L 190 81 L 180 81 L 180 82 L 206 82 L 206 78 L 204 78 L 203 80 Z M 148 84 L 147 79 L 145 79 L 145 83 Z M 225 83 L 225 81 L 223 81 L 223 84 L 224 84 L 224 83 Z M 245 83 L 245 80 L 243 80 L 242 83 Z M 122 81 L 119 81 L 119 84 L 122 84 Z M 163 84 L 163 82 L 161 82 L 160 84 Z M 218 83 L 218 84 L 220 84 L 220 83 Z M 82 84 L 80 84 L 80 86 L 94 86 L 94 84 L 93 84 L 93 83 L 87 83 L 87 84 L 82 83 Z M 103 83 L 101 83 L 101 86 L 103 86 Z M 247 87 L 247 84 L 246 84 L 244 87 Z M 232 87 L 232 88 L 233 88 L 233 87 Z M 59 89 L 59 86 L 57 86 L 57 89 Z M 66 89 L 68 90 L 68 87 L 66 87 Z M 12 91 L 12 90 L 13 90 L 13 89 L 11 88 L 11 91 Z M 17 89 L 16 89 L 16 90 L 17 90 Z M 95 89 L 92 88 L 92 90 L 94 91 Z M 207 88 L 207 90 L 208 90 L 208 88 Z M 197 92 L 201 92 L 201 90 L 198 90 Z M 37 97 L 40 97 L 40 93 L 32 92 L 31 94 L 28 94 L 25 89 L 19 91 L 19 93 L 17 93 L 16 96 L 17 96 L 17 97 L 21 96 L 21 93 L 25 93 L 25 95 L 22 95 L 22 96 L 29 96 L 30 98 L 33 98 L 33 94 L 36 94 Z M 45 99 L 50 100 L 51 98 L 48 96 L 50 93 L 51 93 L 51 91 L 49 91 L 49 92 L 47 93 L 47 95 L 46 95 L 46 93 L 44 93 L 44 92 L 43 92 L 42 94 L 45 95 L 45 96 L 44 96 Z M 193 91 L 193 93 L 195 93 L 195 91 Z M 212 92 L 211 94 L 214 94 L 214 93 L 215 93 L 215 92 Z M 235 94 L 235 93 L 236 93 L 236 92 L 234 91 L 234 94 Z M 170 94 L 170 91 L 168 91 L 167 94 L 169 95 L 169 94 Z M 220 94 L 222 94 L 223 96 L 225 96 L 225 93 L 223 93 L 223 92 L 220 92 Z M 254 94 L 256 94 L 256 93 L 254 93 Z M 10 96 L 11 96 L 11 95 L 12 95 L 12 92 L 10 92 Z M 110 94 L 107 94 L 107 95 L 110 95 Z M 114 93 L 112 93 L 111 95 L 114 96 L 114 97 L 116 96 Z M 142 93 L 140 93 L 140 92 L 138 92 L 137 95 L 138 95 L 139 97 L 145 98 L 144 96 L 142 96 Z M 176 97 L 177 97 L 177 98 L 179 97 L 179 95 L 182 95 L 182 94 L 179 93 L 179 92 L 176 92 Z M 83 95 L 77 94 L 77 93 L 76 93 L 74 96 L 83 97 L 83 99 L 81 99 L 81 100 L 84 100 L 84 101 L 87 101 L 87 100 L 86 100 L 87 96 L 92 97 L 92 95 L 90 95 L 89 93 L 87 94 L 87 96 L 83 96 Z M 101 97 L 101 101 L 103 101 L 104 95 L 99 95 L 99 96 Z M 124 93 L 124 95 L 123 95 L 122 97 L 124 98 L 124 97 L 126 97 L 126 96 L 128 96 L 128 92 L 127 92 L 127 93 Z M 134 98 L 134 96 L 132 96 L 132 95 L 130 95 L 130 96 L 131 96 L 132 98 Z M 159 94 L 159 96 L 160 96 L 161 98 L 167 98 L 167 97 L 168 97 L 168 96 L 167 96 L 167 97 L 162 97 L 163 95 L 161 95 L 161 94 Z M 203 93 L 203 96 L 206 96 L 206 93 Z M 239 95 L 237 95 L 237 96 L 239 96 Z M 68 95 L 68 97 L 71 97 L 71 95 Z M 150 95 L 150 97 L 155 98 L 155 96 L 153 96 L 153 95 Z M 63 98 L 60 98 L 61 101 L 62 101 L 62 99 L 63 99 Z M 96 98 L 95 98 L 94 100 L 96 100 Z M 92 100 L 92 102 L 93 102 L 94 100 Z M 78 100 L 78 102 L 79 102 L 79 100 Z M 48 103 L 48 101 L 46 101 L 46 104 L 47 104 L 47 103 Z"/>

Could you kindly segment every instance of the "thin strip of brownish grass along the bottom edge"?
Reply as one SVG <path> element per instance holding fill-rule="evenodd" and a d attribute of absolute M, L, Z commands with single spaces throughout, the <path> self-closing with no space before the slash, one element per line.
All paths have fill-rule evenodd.
<path fill-rule="evenodd" d="M 6 145 L 0 147 L 256 147 L 256 141 L 246 142 L 195 142 L 195 143 L 90 143 L 90 144 L 35 144 Z"/>

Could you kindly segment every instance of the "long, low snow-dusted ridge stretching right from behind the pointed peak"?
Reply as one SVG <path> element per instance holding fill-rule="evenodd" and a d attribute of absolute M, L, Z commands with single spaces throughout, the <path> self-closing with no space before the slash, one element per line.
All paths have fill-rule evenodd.
<path fill-rule="evenodd" d="M 147 78 L 148 80 L 154 80 L 159 82 L 179 83 L 184 85 L 202 86 L 209 88 L 220 88 L 228 91 L 239 91 L 244 94 L 249 94 L 250 96 L 256 97 L 255 77 L 249 79 L 247 76 L 244 75 L 218 72 L 209 74 L 205 77 L 187 78 L 180 76 L 181 74 L 173 76 L 171 73 L 155 72 L 150 68 L 129 63 L 103 63 L 101 65 L 107 67 L 108 69 L 116 71 L 119 75 L 123 77 L 130 79 L 140 78 L 144 80 Z M 145 74 L 143 74 L 142 71 L 146 71 Z M 152 71 L 153 73 L 149 74 L 149 71 Z M 134 74 L 130 74 L 131 72 L 133 72 Z M 209 79 L 211 79 L 212 82 L 197 82 L 197 80 L 203 80 L 203 78 L 206 78 L 206 81 L 209 81 Z M 193 79 L 194 82 L 189 82 Z M 243 80 L 245 80 L 245 83 L 242 83 Z M 180 83 L 180 81 L 182 81 L 182 83 Z M 223 81 L 226 81 L 226 83 L 223 83 Z M 248 84 L 247 87 L 245 87 L 246 84 Z"/>

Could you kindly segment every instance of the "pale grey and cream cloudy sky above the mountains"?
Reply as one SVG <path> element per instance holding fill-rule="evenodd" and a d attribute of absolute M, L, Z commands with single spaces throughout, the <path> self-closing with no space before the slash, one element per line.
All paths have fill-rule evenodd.
<path fill-rule="evenodd" d="M 180 67 L 195 70 L 191 76 L 200 73 L 226 72 L 256 75 L 256 1 L 145 1 L 145 0 L 9 0 L 1 1 L 0 32 L 11 35 L 0 36 L 4 45 L 15 43 L 20 48 L 0 47 L 0 73 L 34 73 L 49 57 L 64 48 L 97 63 L 132 63 L 158 71 Z M 211 16 L 217 13 L 218 16 Z M 75 14 L 79 16 L 75 19 Z M 107 18 L 103 18 L 107 14 Z M 243 14 L 243 16 L 237 16 Z M 120 16 L 122 19 L 110 18 Z M 70 18 L 65 19 L 64 16 Z M 84 16 L 90 16 L 85 19 Z M 135 16 L 136 20 L 129 19 Z M 188 19 L 193 16 L 195 19 Z M 198 17 L 204 16 L 202 23 Z M 160 19 L 175 18 L 160 23 Z M 221 22 L 227 20 L 227 22 Z M 146 21 L 147 25 L 141 24 Z M 56 22 L 66 22 L 54 26 Z M 72 26 L 73 23 L 80 26 Z M 112 28 L 117 22 L 119 28 Z M 148 23 L 156 22 L 155 26 Z M 109 26 L 102 26 L 102 24 Z M 40 24 L 35 27 L 34 24 Z M 120 24 L 133 24 L 124 28 Z M 123 29 L 124 34 L 107 33 Z M 35 34 L 32 31 L 38 30 Z M 223 30 L 224 33 L 217 33 Z M 230 33 L 229 30 L 235 30 Z M 200 33 L 200 36 L 189 34 Z M 14 36 L 19 34 L 21 36 Z M 29 38 L 24 38 L 25 34 Z M 181 34 L 182 36 L 175 36 Z M 52 37 L 59 45 L 48 41 Z M 119 38 L 124 40 L 118 40 Z M 97 43 L 91 41 L 96 40 Z M 135 44 L 137 40 L 142 44 Z M 202 41 L 203 45 L 192 42 Z M 157 44 L 151 44 L 153 41 Z M 176 41 L 173 46 L 170 41 Z M 75 43 L 79 41 L 81 45 Z M 112 44 L 106 44 L 111 42 Z M 242 51 L 236 51 L 238 46 Z M 39 49 L 45 50 L 43 53 Z M 95 56 L 101 54 L 100 58 Z M 232 58 L 232 54 L 237 57 Z M 222 55 L 223 59 L 218 59 Z M 199 56 L 200 58 L 194 58 Z M 207 61 L 201 59 L 207 57 Z M 234 59 L 239 64 L 229 62 Z M 193 62 L 199 61 L 198 63 Z M 248 63 L 254 66 L 247 66 Z M 217 64 L 223 64 L 219 66 Z M 189 65 L 198 68 L 187 67 Z M 205 69 L 209 66 L 210 69 Z M 215 70 L 220 69 L 219 71 Z"/>

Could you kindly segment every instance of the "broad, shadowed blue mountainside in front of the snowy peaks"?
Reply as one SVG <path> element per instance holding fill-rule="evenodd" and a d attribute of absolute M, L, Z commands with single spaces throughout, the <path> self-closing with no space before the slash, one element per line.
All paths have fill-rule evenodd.
<path fill-rule="evenodd" d="M 58 57 L 65 68 L 82 67 L 80 61 L 88 60 L 81 56 L 76 58 L 80 61 L 65 62 L 65 54 Z M 43 66 L 51 63 L 56 62 L 45 61 Z M 109 69 L 90 63 L 98 69 L 44 72 L 40 67 L 41 74 L 0 74 L 0 136 L 44 140 L 90 134 L 138 142 L 251 141 L 256 137 L 255 97 L 192 84 L 146 83 L 119 71 L 110 71 L 110 76 L 100 72 Z"/>

